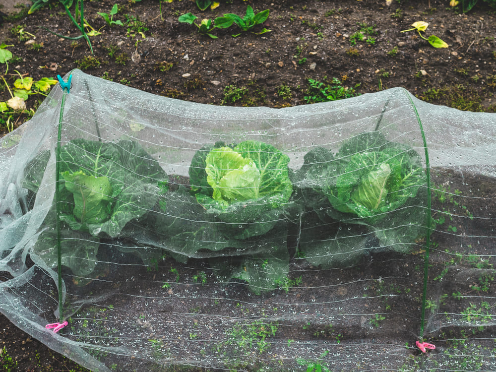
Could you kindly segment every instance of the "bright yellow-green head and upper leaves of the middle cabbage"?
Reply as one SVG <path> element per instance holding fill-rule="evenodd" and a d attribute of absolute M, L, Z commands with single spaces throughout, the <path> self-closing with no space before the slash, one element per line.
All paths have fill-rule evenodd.
<path fill-rule="evenodd" d="M 273 210 L 284 208 L 293 193 L 288 163 L 287 155 L 267 143 L 216 144 L 193 157 L 191 190 L 207 213 L 225 222 L 261 221 L 265 216 L 263 223 L 241 232 L 238 226 L 233 229 L 238 239 L 261 235 L 275 224 Z"/>

